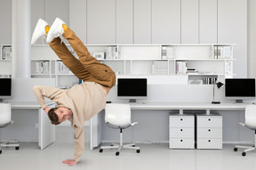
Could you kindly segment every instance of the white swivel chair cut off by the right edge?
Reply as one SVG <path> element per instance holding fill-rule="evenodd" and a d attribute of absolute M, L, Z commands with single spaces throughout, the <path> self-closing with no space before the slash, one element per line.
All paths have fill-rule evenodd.
<path fill-rule="evenodd" d="M 244 149 L 242 155 L 245 156 L 246 152 L 254 151 L 255 142 L 256 142 L 256 104 L 248 104 L 245 107 L 245 123 L 239 123 L 246 128 L 250 128 L 254 130 L 254 143 L 253 146 L 244 146 L 244 145 L 236 145 L 234 151 L 237 151 L 238 148 Z"/>

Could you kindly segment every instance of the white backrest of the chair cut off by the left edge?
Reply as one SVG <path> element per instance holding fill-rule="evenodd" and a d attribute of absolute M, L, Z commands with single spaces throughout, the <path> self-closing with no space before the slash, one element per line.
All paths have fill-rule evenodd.
<path fill-rule="evenodd" d="M 11 119 L 11 104 L 0 103 L 0 127 L 10 123 Z"/>

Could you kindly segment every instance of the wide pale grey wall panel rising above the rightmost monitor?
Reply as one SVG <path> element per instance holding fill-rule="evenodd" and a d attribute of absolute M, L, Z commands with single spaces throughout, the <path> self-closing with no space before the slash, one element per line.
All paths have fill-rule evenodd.
<path fill-rule="evenodd" d="M 218 1 L 218 43 L 236 43 L 234 73 L 247 77 L 247 1 Z"/>

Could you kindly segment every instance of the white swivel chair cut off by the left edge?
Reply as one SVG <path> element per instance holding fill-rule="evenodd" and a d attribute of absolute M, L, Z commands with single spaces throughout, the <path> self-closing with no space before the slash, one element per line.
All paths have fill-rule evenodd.
<path fill-rule="evenodd" d="M 13 123 L 11 120 L 12 110 L 11 104 L 0 103 L 0 128 L 6 128 Z M 2 147 L 15 147 L 16 150 L 20 149 L 20 144 L 17 141 L 1 141 L 0 154 L 2 153 Z"/>

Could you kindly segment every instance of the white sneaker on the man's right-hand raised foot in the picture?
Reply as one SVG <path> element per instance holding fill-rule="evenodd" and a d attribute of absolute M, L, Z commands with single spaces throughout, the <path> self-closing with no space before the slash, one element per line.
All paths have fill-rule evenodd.
<path fill-rule="evenodd" d="M 56 38 L 60 35 L 63 35 L 64 29 L 62 25 L 65 24 L 65 22 L 59 18 L 56 18 L 52 24 L 52 27 L 50 28 L 46 42 L 50 43 L 52 42 L 53 38 Z"/>

